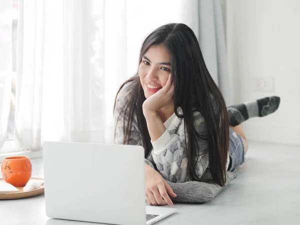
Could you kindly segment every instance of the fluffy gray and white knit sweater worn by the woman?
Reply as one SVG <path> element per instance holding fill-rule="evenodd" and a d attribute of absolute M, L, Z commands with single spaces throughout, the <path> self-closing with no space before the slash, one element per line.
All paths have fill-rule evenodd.
<path fill-rule="evenodd" d="M 120 90 L 116 105 L 115 105 L 115 144 L 122 144 L 124 133 L 123 133 L 123 122 L 128 119 L 126 116 L 121 115 L 119 119 L 118 115 L 124 104 L 124 100 L 127 96 L 128 84 L 125 84 Z M 178 112 L 181 114 L 182 111 L 178 108 Z M 200 112 L 195 111 L 193 113 L 193 120 L 195 124 L 196 131 L 198 133 L 205 133 L 205 123 L 203 116 Z M 126 123 L 125 123 L 126 124 Z M 184 121 L 176 116 L 175 113 L 171 115 L 164 123 L 165 131 L 164 133 L 156 140 L 151 141 L 152 150 L 151 154 L 147 159 L 156 165 L 158 172 L 170 182 L 186 182 L 189 181 L 187 176 L 187 151 L 185 146 L 185 138 L 187 134 L 184 135 Z M 197 154 L 199 155 L 196 160 L 196 173 L 199 177 L 202 176 L 205 169 L 208 167 L 208 151 L 207 151 L 207 142 L 204 142 L 200 139 L 197 139 L 198 149 Z M 131 137 L 128 144 L 131 145 L 142 145 L 141 136 L 138 131 L 138 125 L 136 116 L 134 117 L 132 128 L 131 128 Z M 227 160 L 229 161 L 229 160 Z"/>

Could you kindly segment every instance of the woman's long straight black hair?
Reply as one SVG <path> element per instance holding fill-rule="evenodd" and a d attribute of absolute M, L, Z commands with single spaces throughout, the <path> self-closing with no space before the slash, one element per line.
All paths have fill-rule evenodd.
<path fill-rule="evenodd" d="M 229 146 L 229 121 L 224 98 L 209 74 L 193 31 L 182 23 L 168 23 L 153 30 L 143 41 L 139 63 L 145 52 L 153 45 L 163 45 L 171 56 L 171 73 L 174 83 L 174 112 L 179 118 L 184 118 L 185 143 L 188 155 L 188 176 L 191 180 L 199 180 L 195 171 L 195 163 L 199 157 L 196 138 L 207 143 L 209 168 L 216 183 L 223 186 L 226 181 L 225 167 Z M 146 99 L 136 73 L 126 80 L 129 82 L 126 102 L 122 108 L 124 120 L 123 144 L 128 144 L 131 127 L 136 116 L 141 134 L 142 146 L 147 157 L 152 149 L 142 103 Z M 120 90 L 119 89 L 119 90 Z M 119 92 L 119 91 L 118 91 Z M 115 107 L 116 100 L 114 102 Z M 177 108 L 181 107 L 182 114 Z M 193 112 L 198 110 L 205 122 L 206 132 L 196 132 Z M 119 115 L 120 116 L 120 115 Z M 118 118 L 117 118 L 118 119 Z"/>

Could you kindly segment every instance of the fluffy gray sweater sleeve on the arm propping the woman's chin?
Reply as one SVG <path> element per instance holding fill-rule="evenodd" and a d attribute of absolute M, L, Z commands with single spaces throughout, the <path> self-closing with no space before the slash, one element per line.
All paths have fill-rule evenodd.
<path fill-rule="evenodd" d="M 205 122 L 200 112 L 195 111 L 193 116 L 196 132 L 199 134 L 205 133 Z M 159 173 L 171 182 L 186 182 L 189 180 L 183 127 L 184 125 L 180 124 L 178 130 L 173 134 L 170 134 L 166 129 L 156 141 L 152 142 L 154 163 Z M 198 149 L 196 149 L 198 157 L 195 159 L 195 170 L 196 174 L 201 177 L 208 165 L 207 143 L 198 138 L 196 141 L 198 144 Z"/>

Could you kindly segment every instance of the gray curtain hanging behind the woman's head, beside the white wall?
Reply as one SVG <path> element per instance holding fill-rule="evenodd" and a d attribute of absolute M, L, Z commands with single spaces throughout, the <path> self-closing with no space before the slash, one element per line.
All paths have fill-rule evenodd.
<path fill-rule="evenodd" d="M 182 0 L 181 20 L 198 38 L 205 64 L 227 105 L 232 103 L 220 0 Z"/>

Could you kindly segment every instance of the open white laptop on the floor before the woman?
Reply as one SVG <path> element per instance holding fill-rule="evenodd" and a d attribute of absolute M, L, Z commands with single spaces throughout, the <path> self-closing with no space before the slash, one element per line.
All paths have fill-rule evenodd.
<path fill-rule="evenodd" d="M 109 224 L 152 224 L 175 211 L 146 206 L 142 146 L 43 142 L 46 215 Z"/>

